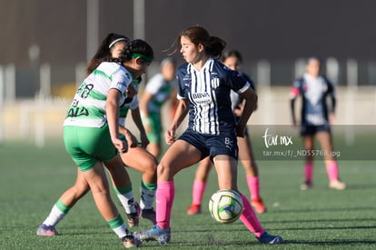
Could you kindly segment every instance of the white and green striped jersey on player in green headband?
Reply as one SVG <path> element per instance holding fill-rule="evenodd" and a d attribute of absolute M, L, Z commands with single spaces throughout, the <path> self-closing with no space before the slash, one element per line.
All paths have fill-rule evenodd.
<path fill-rule="evenodd" d="M 119 106 L 126 99 L 125 90 L 133 81 L 123 65 L 104 62 L 84 79 L 78 88 L 64 120 L 64 126 L 102 127 L 106 122 L 105 103 L 110 89 L 123 95 Z"/>

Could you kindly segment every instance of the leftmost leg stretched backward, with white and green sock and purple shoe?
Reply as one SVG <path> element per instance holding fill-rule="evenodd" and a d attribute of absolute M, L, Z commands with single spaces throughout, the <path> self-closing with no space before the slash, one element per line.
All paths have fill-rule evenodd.
<path fill-rule="evenodd" d="M 77 168 L 75 183 L 57 200 L 45 221 L 39 225 L 37 235 L 57 235 L 55 226 L 64 218 L 74 204 L 90 190 L 83 173 Z"/>

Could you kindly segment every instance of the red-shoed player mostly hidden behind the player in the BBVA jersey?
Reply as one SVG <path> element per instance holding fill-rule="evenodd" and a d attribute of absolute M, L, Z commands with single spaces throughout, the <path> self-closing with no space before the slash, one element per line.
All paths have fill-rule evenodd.
<path fill-rule="evenodd" d="M 223 55 L 223 64 L 229 68 L 240 72 L 242 66 L 242 55 L 236 50 L 230 50 Z M 240 74 L 251 84 L 254 90 L 252 80 L 248 75 Z M 239 119 L 242 116 L 242 99 L 240 95 L 231 92 L 233 113 Z M 249 140 L 247 129 L 245 128 L 244 137 L 238 138 L 239 158 L 245 170 L 245 178 L 251 193 L 251 204 L 257 213 L 264 213 L 266 206 L 262 203 L 260 196 L 260 180 L 256 162 L 252 153 L 252 146 Z M 203 159 L 197 167 L 196 175 L 193 181 L 192 205 L 187 209 L 188 215 L 197 215 L 201 213 L 201 204 L 203 202 L 203 192 L 206 188 L 209 172 L 212 168 L 212 162 L 209 157 Z"/>

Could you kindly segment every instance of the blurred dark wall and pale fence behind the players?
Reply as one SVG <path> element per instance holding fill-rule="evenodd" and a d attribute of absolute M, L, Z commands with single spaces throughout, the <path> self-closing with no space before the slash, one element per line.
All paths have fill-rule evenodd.
<path fill-rule="evenodd" d="M 191 25 L 242 53 L 259 95 L 250 125 L 291 124 L 289 91 L 312 55 L 337 87 L 337 124 L 376 125 L 375 9 L 368 0 L 0 0 L 0 142 L 62 137 L 66 108 L 108 33 L 153 46 L 145 83 Z"/>

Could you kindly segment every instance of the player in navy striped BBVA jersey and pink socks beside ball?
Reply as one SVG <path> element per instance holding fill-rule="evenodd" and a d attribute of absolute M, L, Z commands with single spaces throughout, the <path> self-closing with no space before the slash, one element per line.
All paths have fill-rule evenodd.
<path fill-rule="evenodd" d="M 214 58 L 221 56 L 225 42 L 211 36 L 201 26 L 187 28 L 176 38 L 175 50 L 187 62 L 178 69 L 179 106 L 165 140 L 171 145 L 157 168 L 156 225 L 152 229 L 136 232 L 140 240 L 157 240 L 168 243 L 171 238 L 170 220 L 173 209 L 173 176 L 180 170 L 210 156 L 218 174 L 220 189 L 237 188 L 237 141 L 243 136 L 245 125 L 257 102 L 257 96 L 239 73 L 229 69 Z M 245 100 L 242 116 L 236 123 L 230 90 Z M 189 125 L 175 141 L 175 132 L 189 112 Z M 267 244 L 282 243 L 280 236 L 267 234 L 252 210 L 248 199 L 242 195 L 242 223 L 258 240 Z"/>

